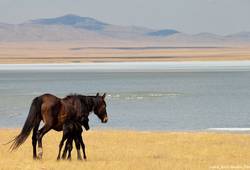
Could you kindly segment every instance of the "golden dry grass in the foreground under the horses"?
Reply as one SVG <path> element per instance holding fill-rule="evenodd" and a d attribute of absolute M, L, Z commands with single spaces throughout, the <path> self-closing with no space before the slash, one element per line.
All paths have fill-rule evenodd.
<path fill-rule="evenodd" d="M 44 137 L 43 160 L 32 159 L 31 137 L 17 151 L 3 143 L 17 129 L 0 130 L 0 169 L 249 169 L 250 135 L 214 132 L 135 132 L 93 130 L 84 133 L 87 161 L 56 161 L 61 133 Z"/>

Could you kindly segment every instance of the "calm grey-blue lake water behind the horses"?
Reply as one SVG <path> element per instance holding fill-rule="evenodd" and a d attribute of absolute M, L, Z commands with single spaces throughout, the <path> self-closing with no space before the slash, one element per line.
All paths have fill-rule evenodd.
<path fill-rule="evenodd" d="M 250 127 L 250 71 L 0 71 L 0 127 L 21 127 L 43 93 L 107 92 L 109 122 L 90 127 L 206 130 Z"/>

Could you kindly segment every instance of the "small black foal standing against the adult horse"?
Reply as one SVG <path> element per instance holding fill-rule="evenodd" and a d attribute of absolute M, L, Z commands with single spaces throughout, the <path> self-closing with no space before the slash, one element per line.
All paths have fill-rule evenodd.
<path fill-rule="evenodd" d="M 71 159 L 71 151 L 73 149 L 73 140 L 75 141 L 75 146 L 77 149 L 77 159 L 82 160 L 81 153 L 80 153 L 80 145 L 83 150 L 83 158 L 87 159 L 85 153 L 85 145 L 82 140 L 82 125 L 86 130 L 89 130 L 89 119 L 88 117 L 82 117 L 81 120 L 67 120 L 63 125 L 63 137 L 59 144 L 59 153 L 57 156 L 57 160 L 60 160 L 61 149 L 63 147 L 64 141 L 66 141 L 66 145 L 64 147 L 62 158 L 66 158 L 66 154 L 68 151 L 67 159 Z"/>

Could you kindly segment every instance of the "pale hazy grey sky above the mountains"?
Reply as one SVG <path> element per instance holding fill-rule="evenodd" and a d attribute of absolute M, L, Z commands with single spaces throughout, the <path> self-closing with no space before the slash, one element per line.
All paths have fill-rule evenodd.
<path fill-rule="evenodd" d="M 250 31 L 250 0 L 0 0 L 0 22 L 69 13 L 186 33 Z"/>

